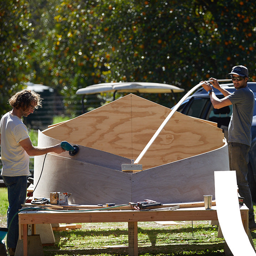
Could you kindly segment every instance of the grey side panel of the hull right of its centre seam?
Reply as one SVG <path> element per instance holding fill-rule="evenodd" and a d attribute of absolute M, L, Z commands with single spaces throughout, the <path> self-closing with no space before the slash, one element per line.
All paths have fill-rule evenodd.
<path fill-rule="evenodd" d="M 132 174 L 132 202 L 202 201 L 213 195 L 214 171 L 229 170 L 227 144 L 218 150 Z"/>

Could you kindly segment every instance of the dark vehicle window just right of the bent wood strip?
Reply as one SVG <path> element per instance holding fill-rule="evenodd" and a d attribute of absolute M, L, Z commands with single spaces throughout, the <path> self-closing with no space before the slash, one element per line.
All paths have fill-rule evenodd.
<path fill-rule="evenodd" d="M 192 117 L 202 118 L 202 114 L 210 98 L 194 98 L 190 105 L 183 112 L 184 114 Z"/>

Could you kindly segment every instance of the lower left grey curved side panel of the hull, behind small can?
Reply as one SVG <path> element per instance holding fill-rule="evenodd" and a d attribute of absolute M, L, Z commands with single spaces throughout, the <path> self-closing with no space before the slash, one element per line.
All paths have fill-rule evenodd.
<path fill-rule="evenodd" d="M 35 168 L 42 168 L 44 156 L 35 157 Z M 37 184 L 40 172 L 34 174 Z M 131 174 L 53 154 L 45 158 L 42 176 L 34 197 L 50 198 L 50 192 L 72 193 L 74 204 L 123 203 L 131 201 Z"/>

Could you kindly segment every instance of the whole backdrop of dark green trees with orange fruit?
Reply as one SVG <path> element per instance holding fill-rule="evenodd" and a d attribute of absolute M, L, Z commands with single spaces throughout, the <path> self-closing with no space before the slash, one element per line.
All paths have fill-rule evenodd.
<path fill-rule="evenodd" d="M 255 71 L 256 8 L 228 0 L 38 0 L 0 4 L 0 110 L 23 82 L 79 105 L 75 91 L 102 82 L 159 82 L 186 90 L 231 67 Z M 181 95 L 179 95 L 181 96 Z M 172 95 L 143 95 L 162 105 Z M 68 113 L 71 114 L 71 113 Z"/>

